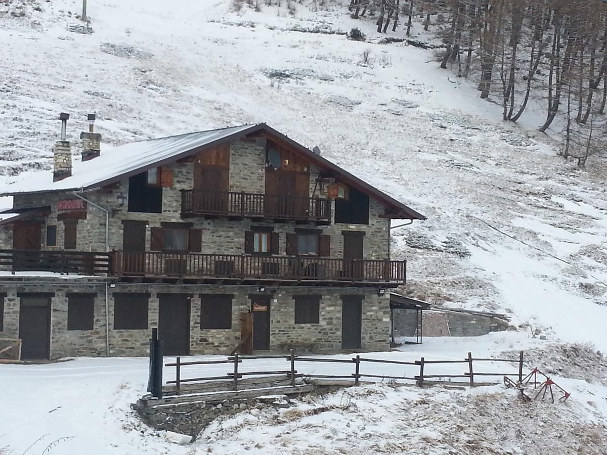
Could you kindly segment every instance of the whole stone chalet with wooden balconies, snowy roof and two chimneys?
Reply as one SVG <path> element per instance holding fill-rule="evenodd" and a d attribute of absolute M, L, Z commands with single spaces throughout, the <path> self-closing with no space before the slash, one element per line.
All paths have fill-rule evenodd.
<path fill-rule="evenodd" d="M 144 140 L 5 187 L 0 338 L 22 359 L 389 347 L 390 220 L 424 217 L 266 124 Z M 79 155 L 80 155 L 79 153 Z"/>

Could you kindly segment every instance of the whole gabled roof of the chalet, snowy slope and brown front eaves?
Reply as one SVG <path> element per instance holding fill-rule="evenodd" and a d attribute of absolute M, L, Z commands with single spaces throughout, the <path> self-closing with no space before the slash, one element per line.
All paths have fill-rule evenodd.
<path fill-rule="evenodd" d="M 265 123 L 246 124 L 124 144 L 114 149 L 103 150 L 99 157 L 89 161 L 74 160 L 72 164 L 72 176 L 63 180 L 53 182 L 52 172 L 39 172 L 36 173 L 35 179 L 25 178 L 24 180 L 17 181 L 8 186 L 6 190 L 0 192 L 0 195 L 64 192 L 98 188 L 140 174 L 140 172 L 153 169 L 154 167 L 174 163 L 180 158 L 194 155 L 218 144 L 238 140 L 255 133 L 266 133 L 287 143 L 294 150 L 307 157 L 312 163 L 319 166 L 320 169 L 328 171 L 331 177 L 338 178 L 344 183 L 356 187 L 356 189 L 381 201 L 390 207 L 391 217 L 412 220 L 426 219 L 424 215 L 405 206 L 405 204 L 358 177 L 354 177 L 354 175 L 346 170 L 320 157 L 320 155 L 296 143 Z"/>

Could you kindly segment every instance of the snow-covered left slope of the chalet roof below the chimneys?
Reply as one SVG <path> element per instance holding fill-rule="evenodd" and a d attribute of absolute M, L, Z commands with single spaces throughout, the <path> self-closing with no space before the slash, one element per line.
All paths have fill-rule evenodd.
<path fill-rule="evenodd" d="M 242 125 L 216 130 L 187 133 L 166 138 L 149 139 L 103 150 L 93 160 L 73 160 L 72 176 L 53 182 L 52 172 L 36 172 L 36 178 L 24 178 L 0 190 L 0 195 L 78 190 L 106 184 L 107 181 L 154 167 L 176 155 L 207 146 L 216 141 L 245 132 L 256 125 Z"/>

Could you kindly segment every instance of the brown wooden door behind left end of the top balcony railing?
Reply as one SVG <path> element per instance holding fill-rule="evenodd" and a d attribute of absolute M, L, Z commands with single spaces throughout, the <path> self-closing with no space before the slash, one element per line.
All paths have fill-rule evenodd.
<path fill-rule="evenodd" d="M 229 168 L 194 166 L 194 211 L 223 214 L 228 210 Z"/>

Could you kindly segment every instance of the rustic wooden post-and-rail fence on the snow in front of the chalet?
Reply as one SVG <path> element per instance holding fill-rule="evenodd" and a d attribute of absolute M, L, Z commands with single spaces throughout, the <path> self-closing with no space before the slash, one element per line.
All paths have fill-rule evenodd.
<path fill-rule="evenodd" d="M 262 369 L 259 371 L 239 371 L 239 366 L 245 360 L 254 360 L 254 359 L 285 359 L 289 362 L 289 369 Z M 354 372 L 344 374 L 307 374 L 298 372 L 296 369 L 297 362 L 311 362 L 311 363 L 350 363 L 354 366 Z M 483 362 L 509 362 L 509 363 L 517 363 L 518 364 L 518 372 L 483 372 L 476 371 L 475 362 L 478 366 L 478 363 Z M 413 376 L 395 376 L 388 374 L 379 374 L 378 372 L 363 372 L 361 371 L 361 366 L 365 363 L 379 363 L 383 365 L 409 365 L 416 366 L 419 374 L 414 374 Z M 467 370 L 463 372 L 463 374 L 450 374 L 447 372 L 432 372 L 432 374 L 427 374 L 426 368 L 429 365 L 446 365 L 452 363 L 462 363 L 467 365 Z M 223 376 L 202 376 L 202 377 L 191 377 L 191 378 L 183 378 L 182 369 L 191 365 L 215 365 L 215 364 L 231 364 L 232 371 L 227 372 Z M 290 354 L 288 356 L 239 356 L 235 354 L 234 356 L 227 357 L 226 360 L 200 360 L 194 362 L 181 362 L 181 357 L 177 357 L 174 363 L 165 363 L 164 366 L 175 367 L 175 380 L 169 380 L 166 382 L 167 385 L 174 385 L 174 390 L 178 394 L 181 391 L 181 386 L 184 384 L 188 384 L 188 390 L 191 391 L 195 388 L 196 383 L 208 383 L 215 380 L 226 380 L 229 379 L 232 381 L 231 388 L 233 390 L 238 390 L 239 388 L 239 379 L 242 379 L 244 376 L 276 376 L 276 375 L 285 375 L 285 379 L 290 379 L 291 385 L 294 386 L 296 383 L 296 378 L 319 378 L 319 379 L 353 379 L 353 385 L 359 385 L 361 382 L 361 378 L 374 378 L 374 379 L 388 379 L 388 380 L 412 380 L 417 383 L 420 387 L 427 383 L 428 379 L 442 379 L 442 378 L 465 378 L 467 379 L 467 383 L 470 386 L 475 385 L 475 377 L 476 376 L 514 376 L 518 377 L 518 380 L 523 380 L 523 351 L 520 351 L 520 356 L 518 360 L 513 359 L 483 359 L 480 357 L 472 357 L 472 352 L 468 352 L 468 356 L 463 360 L 426 360 L 424 357 L 421 357 L 419 360 L 415 360 L 413 362 L 402 362 L 400 360 L 384 360 L 384 359 L 370 359 L 367 357 L 356 356 L 351 359 L 333 359 L 333 358 L 322 358 L 322 357 L 300 357 L 297 356 L 293 349 L 291 349 Z M 432 381 L 433 383 L 442 382 L 442 381 Z"/>

